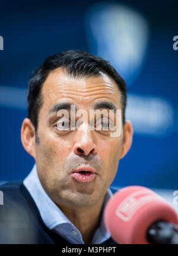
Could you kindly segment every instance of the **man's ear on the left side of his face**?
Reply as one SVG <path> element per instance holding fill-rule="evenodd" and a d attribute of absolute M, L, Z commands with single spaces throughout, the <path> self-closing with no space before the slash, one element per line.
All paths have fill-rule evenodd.
<path fill-rule="evenodd" d="M 25 118 L 21 126 L 21 143 L 28 154 L 35 158 L 35 130 L 29 118 Z"/>

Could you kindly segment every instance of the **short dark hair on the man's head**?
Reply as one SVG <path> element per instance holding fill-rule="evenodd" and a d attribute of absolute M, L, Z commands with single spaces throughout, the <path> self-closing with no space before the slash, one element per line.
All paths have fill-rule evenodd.
<path fill-rule="evenodd" d="M 70 50 L 47 57 L 45 62 L 34 70 L 28 83 L 28 118 L 37 131 L 39 111 L 43 104 L 42 86 L 50 71 L 62 67 L 72 77 L 100 76 L 100 71 L 107 73 L 119 87 L 122 104 L 122 121 L 125 123 L 126 84 L 115 68 L 103 58 L 88 52 Z"/>

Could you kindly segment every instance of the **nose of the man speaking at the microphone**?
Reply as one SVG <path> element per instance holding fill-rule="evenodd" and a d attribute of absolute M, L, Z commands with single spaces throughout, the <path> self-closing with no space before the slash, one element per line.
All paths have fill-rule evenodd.
<path fill-rule="evenodd" d="M 75 132 L 76 143 L 74 145 L 74 153 L 76 155 L 96 154 L 96 145 L 93 142 L 91 130 L 84 125 L 80 130 Z"/>

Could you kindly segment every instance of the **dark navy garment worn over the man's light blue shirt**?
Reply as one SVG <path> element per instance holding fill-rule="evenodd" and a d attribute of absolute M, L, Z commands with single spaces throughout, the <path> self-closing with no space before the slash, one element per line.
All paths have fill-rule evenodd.
<path fill-rule="evenodd" d="M 4 205 L 0 205 L 0 243 L 70 244 L 43 223 L 23 182 L 5 183 L 0 191 L 4 193 Z M 110 238 L 102 244 L 116 242 Z"/>

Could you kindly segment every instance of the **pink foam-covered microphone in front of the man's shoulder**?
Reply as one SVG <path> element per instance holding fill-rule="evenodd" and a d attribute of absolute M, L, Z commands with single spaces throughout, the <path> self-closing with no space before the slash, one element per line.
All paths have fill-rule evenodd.
<path fill-rule="evenodd" d="M 176 211 L 143 186 L 127 186 L 114 193 L 104 210 L 104 223 L 118 243 L 178 243 Z"/>

